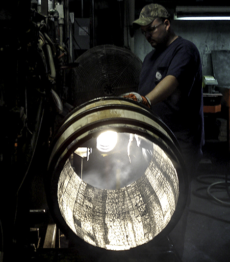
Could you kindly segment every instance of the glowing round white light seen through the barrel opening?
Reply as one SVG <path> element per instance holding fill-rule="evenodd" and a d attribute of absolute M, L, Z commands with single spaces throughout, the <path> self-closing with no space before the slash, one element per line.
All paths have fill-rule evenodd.
<path fill-rule="evenodd" d="M 96 148 L 101 152 L 112 151 L 117 144 L 117 132 L 106 131 L 98 135 L 96 139 Z"/>

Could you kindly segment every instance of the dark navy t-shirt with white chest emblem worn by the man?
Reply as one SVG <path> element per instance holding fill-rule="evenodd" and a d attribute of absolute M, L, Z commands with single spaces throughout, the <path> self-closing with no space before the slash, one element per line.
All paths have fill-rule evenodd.
<path fill-rule="evenodd" d="M 204 142 L 202 68 L 199 51 L 192 42 L 178 37 L 165 49 L 147 54 L 138 93 L 147 95 L 168 75 L 176 77 L 179 85 L 164 102 L 152 106 L 152 110 L 177 139 L 199 147 Z"/>

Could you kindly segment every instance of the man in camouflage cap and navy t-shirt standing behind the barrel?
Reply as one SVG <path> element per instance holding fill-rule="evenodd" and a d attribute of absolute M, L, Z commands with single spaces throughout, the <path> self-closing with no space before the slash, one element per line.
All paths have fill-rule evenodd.
<path fill-rule="evenodd" d="M 204 144 L 202 69 L 199 52 L 193 43 L 173 32 L 170 15 L 161 5 L 145 6 L 139 19 L 133 22 L 133 26 L 141 28 L 146 40 L 154 48 L 143 61 L 138 94 L 134 95 L 151 107 L 176 136 L 191 182 Z M 181 256 L 190 190 L 188 199 L 183 217 L 170 234 Z"/>

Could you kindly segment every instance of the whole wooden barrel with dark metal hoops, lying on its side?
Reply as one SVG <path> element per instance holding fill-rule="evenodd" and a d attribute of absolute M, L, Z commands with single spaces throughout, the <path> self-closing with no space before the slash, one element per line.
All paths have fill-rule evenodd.
<path fill-rule="evenodd" d="M 98 98 L 73 110 L 50 150 L 47 199 L 71 238 L 128 250 L 168 234 L 181 217 L 187 176 L 178 143 L 144 106 Z"/>

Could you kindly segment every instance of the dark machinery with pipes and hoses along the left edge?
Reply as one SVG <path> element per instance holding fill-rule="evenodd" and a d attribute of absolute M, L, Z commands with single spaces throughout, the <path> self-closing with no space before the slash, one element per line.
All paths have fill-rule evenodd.
<path fill-rule="evenodd" d="M 44 7 L 39 13 L 33 2 L 18 1 L 4 3 L 1 9 L 0 252 L 4 261 L 20 253 L 30 257 L 30 221 L 36 213 L 30 212 L 31 185 L 36 170 L 42 175 L 45 168 L 56 117 L 63 118 L 63 68 L 69 68 L 68 50 L 59 34 L 63 19 L 57 12 L 48 16 Z"/>

